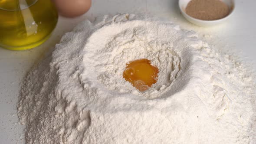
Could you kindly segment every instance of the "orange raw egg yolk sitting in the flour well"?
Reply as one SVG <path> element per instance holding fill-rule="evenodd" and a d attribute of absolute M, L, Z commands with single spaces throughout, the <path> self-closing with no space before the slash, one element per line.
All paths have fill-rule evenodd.
<path fill-rule="evenodd" d="M 158 68 L 148 59 L 138 59 L 126 64 L 123 77 L 139 91 L 146 91 L 158 80 Z"/>

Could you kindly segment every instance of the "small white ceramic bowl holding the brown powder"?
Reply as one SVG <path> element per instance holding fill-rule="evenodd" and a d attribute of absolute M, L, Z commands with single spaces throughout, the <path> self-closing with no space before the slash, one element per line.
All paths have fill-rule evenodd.
<path fill-rule="evenodd" d="M 224 21 L 226 21 L 233 14 L 234 9 L 235 9 L 235 0 L 222 0 L 222 1 L 229 6 L 230 13 L 226 17 L 219 19 L 219 20 L 199 20 L 199 19 L 189 16 L 185 12 L 185 9 L 187 7 L 187 3 L 189 3 L 190 0 L 179 0 L 179 7 L 180 7 L 180 10 L 181 10 L 181 13 L 183 14 L 183 16 L 191 23 L 194 23 L 195 25 L 198 25 L 198 26 L 214 26 L 214 25 L 217 25 L 217 24 L 220 24 L 220 23 L 223 23 Z"/>

